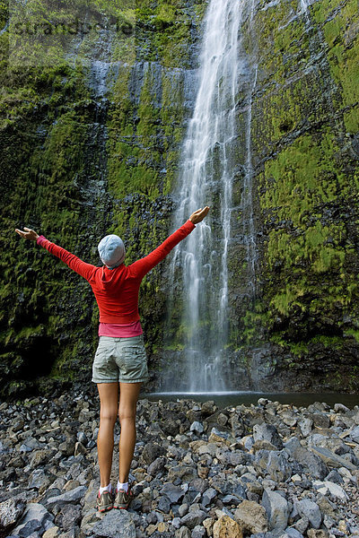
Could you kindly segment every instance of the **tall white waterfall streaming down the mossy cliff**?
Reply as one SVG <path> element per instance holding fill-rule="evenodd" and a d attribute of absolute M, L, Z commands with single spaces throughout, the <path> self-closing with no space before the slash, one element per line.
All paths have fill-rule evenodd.
<path fill-rule="evenodd" d="M 239 39 L 245 7 L 245 0 L 211 0 L 208 6 L 197 100 L 180 157 L 175 228 L 179 228 L 197 208 L 211 206 L 206 220 L 176 247 L 171 263 L 174 290 L 171 291 L 170 312 L 181 304 L 176 282 L 182 278 L 180 333 L 185 334 L 187 362 L 187 378 L 176 380 L 176 383 L 177 388 L 189 392 L 223 391 L 230 383 L 223 371 L 229 332 L 228 254 L 231 222 L 239 211 L 246 214 L 243 243 L 247 263 L 252 268 L 250 294 L 254 292 L 250 110 L 256 82 L 249 82 L 253 77 Z M 235 208 L 232 206 L 232 184 L 239 165 L 240 137 L 236 105 L 242 77 L 249 88 L 247 100 L 250 102 L 246 103 L 245 109 L 246 132 L 241 134 L 245 153 L 242 168 L 246 169 L 243 194 L 241 207 Z M 179 383 L 182 383 L 181 387 Z"/>

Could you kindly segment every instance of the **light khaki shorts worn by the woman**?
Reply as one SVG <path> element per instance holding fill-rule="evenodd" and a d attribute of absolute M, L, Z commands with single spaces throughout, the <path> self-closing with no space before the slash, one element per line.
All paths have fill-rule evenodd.
<path fill-rule="evenodd" d="M 93 383 L 141 383 L 148 380 L 144 335 L 100 336 L 92 363 Z"/>

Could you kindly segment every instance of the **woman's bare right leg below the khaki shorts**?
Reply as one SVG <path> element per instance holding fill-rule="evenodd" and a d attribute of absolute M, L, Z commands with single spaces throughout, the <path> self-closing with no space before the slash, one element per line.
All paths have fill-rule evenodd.
<path fill-rule="evenodd" d="M 121 423 L 119 438 L 119 482 L 128 482 L 128 473 L 136 445 L 136 404 L 142 383 L 119 384 L 118 417 Z"/>

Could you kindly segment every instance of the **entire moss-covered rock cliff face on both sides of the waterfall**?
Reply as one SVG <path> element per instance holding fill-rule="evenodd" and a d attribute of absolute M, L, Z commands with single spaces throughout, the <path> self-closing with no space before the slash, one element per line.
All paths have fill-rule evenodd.
<path fill-rule="evenodd" d="M 97 340 L 88 284 L 13 229 L 29 226 L 95 265 L 106 233 L 124 239 L 127 263 L 147 254 L 171 229 L 196 99 L 205 1 L 125 9 L 97 0 L 78 13 L 62 4 L 28 0 L 22 32 L 24 13 L 0 4 L 3 395 L 89 379 Z M 229 367 L 243 388 L 355 390 L 356 3 L 248 2 L 246 13 L 233 206 L 246 186 L 250 128 L 256 292 L 246 299 L 248 215 L 239 210 L 228 264 Z M 39 21 L 42 34 L 52 31 L 46 54 L 33 30 Z M 171 349 L 163 344 L 167 267 L 140 292 L 157 373 L 180 356 L 180 327 Z"/>

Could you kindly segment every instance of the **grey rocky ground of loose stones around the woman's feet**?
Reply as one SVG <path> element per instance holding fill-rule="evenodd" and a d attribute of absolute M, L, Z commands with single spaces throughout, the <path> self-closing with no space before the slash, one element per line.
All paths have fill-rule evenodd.
<path fill-rule="evenodd" d="M 359 538 L 359 406 L 140 400 L 136 498 L 106 514 L 98 410 L 83 394 L 0 405 L 0 538 Z"/>

